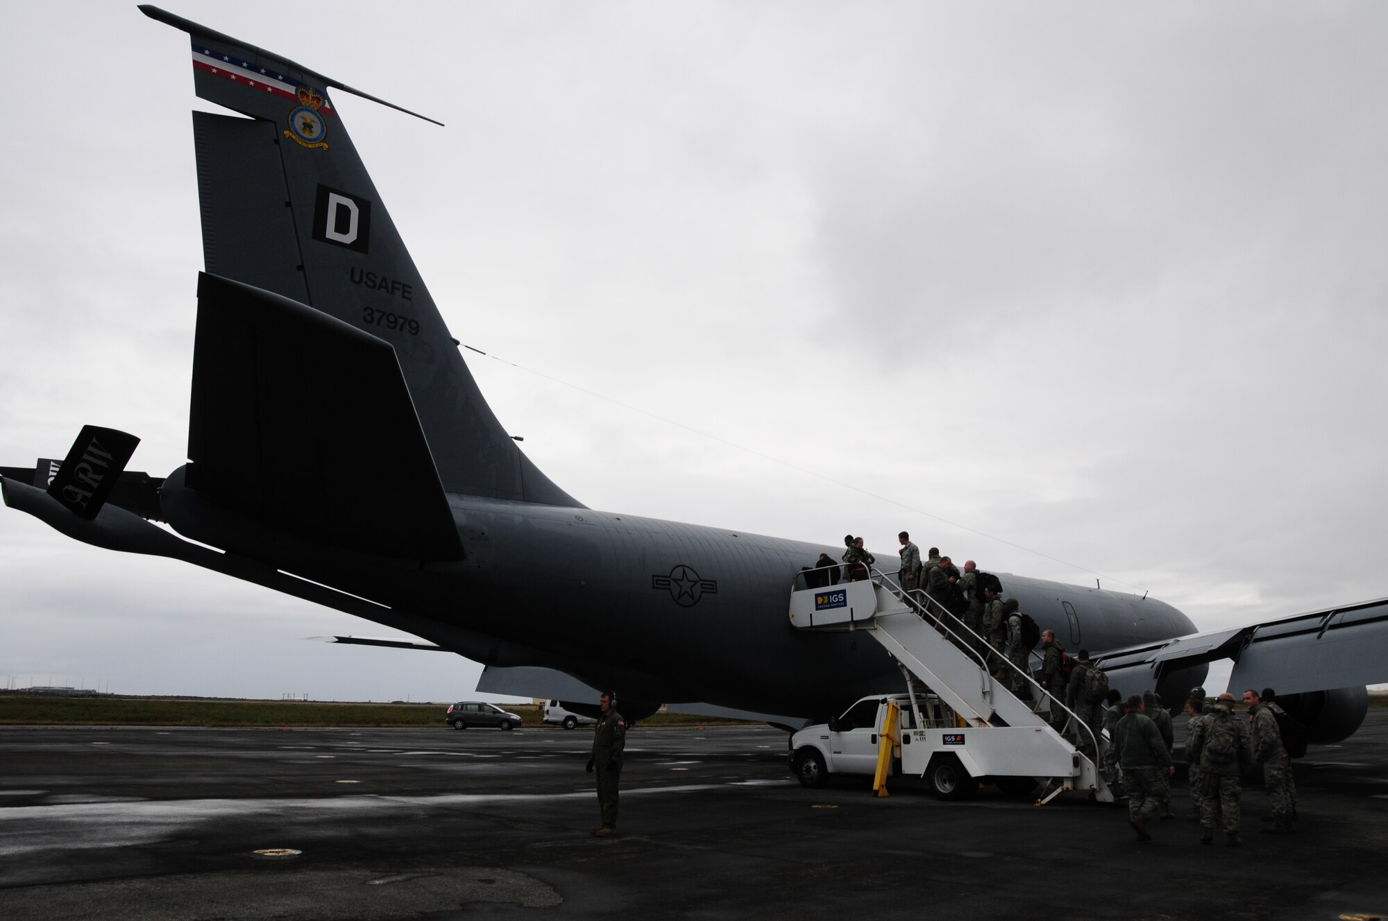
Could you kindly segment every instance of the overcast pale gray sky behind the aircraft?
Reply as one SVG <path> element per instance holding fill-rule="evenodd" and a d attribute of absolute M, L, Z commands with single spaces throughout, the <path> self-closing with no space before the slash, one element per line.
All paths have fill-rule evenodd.
<path fill-rule="evenodd" d="M 593 508 L 906 528 L 1201 628 L 1388 595 L 1384 4 L 164 6 L 446 122 L 333 94 L 505 359 L 468 352 L 491 406 Z M 133 3 L 0 7 L 0 463 L 83 423 L 185 460 L 187 47 Z M 301 639 L 333 632 L 389 631 L 0 509 L 0 684 L 480 673 Z"/>

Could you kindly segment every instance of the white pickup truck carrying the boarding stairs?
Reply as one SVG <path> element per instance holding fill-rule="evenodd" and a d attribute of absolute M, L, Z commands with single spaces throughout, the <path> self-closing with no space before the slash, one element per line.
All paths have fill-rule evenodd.
<path fill-rule="evenodd" d="M 933 694 L 917 694 L 920 725 L 908 695 L 863 698 L 827 724 L 790 737 L 790 767 L 804 786 L 823 786 L 830 774 L 872 777 L 887 705 L 899 709 L 890 775 L 923 777 L 942 799 L 965 799 L 979 785 L 1009 795 L 1030 793 L 1037 778 L 1069 777 L 1078 770 L 1035 727 L 966 725 Z"/>

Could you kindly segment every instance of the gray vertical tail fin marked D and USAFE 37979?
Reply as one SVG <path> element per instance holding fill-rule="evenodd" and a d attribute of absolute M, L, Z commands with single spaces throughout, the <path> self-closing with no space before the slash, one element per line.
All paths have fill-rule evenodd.
<path fill-rule="evenodd" d="M 328 86 L 375 97 L 157 7 L 140 10 L 192 36 L 201 98 L 248 117 L 193 115 L 207 272 L 389 343 L 446 491 L 582 508 L 487 406 Z"/>

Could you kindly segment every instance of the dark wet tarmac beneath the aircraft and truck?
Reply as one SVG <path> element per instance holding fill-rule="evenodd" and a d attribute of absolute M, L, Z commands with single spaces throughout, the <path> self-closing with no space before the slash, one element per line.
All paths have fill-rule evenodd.
<path fill-rule="evenodd" d="M 1078 795 L 802 789 L 769 727 L 633 730 L 598 839 L 590 739 L 0 728 L 0 917 L 1388 920 L 1388 709 L 1296 761 L 1295 835 L 1245 789 L 1242 847 Z"/>

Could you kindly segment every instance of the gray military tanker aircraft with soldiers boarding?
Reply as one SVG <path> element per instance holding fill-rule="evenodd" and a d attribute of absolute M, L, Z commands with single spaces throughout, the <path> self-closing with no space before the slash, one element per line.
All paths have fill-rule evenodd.
<path fill-rule="evenodd" d="M 0 469 L 7 505 L 412 634 L 340 639 L 451 651 L 484 663 L 480 689 L 580 712 L 609 687 L 633 718 L 683 702 L 794 723 L 901 688 L 876 644 L 788 623 L 801 569 L 836 549 L 595 512 L 525 456 L 328 86 L 383 100 L 140 10 L 189 33 L 197 94 L 243 115 L 193 114 L 205 270 L 187 463 L 128 473 L 137 438 L 89 426 L 62 462 Z M 1388 601 L 1199 634 L 1152 598 L 1002 584 L 1102 655 L 1115 687 L 1180 700 L 1206 663 L 1234 659 L 1235 687 L 1274 685 L 1319 741 L 1353 732 L 1363 685 L 1388 680 Z"/>

